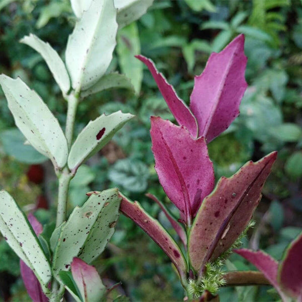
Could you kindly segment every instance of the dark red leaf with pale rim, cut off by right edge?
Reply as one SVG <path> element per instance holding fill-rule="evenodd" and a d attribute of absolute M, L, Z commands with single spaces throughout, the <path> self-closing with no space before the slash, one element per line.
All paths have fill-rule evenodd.
<path fill-rule="evenodd" d="M 291 296 L 302 297 L 302 233 L 286 249 L 278 278 L 282 288 Z"/>

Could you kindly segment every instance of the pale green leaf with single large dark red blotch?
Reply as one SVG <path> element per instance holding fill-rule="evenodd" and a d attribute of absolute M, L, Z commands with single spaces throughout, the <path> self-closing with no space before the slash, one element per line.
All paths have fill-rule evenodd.
<path fill-rule="evenodd" d="M 121 111 L 110 115 L 102 114 L 81 131 L 71 146 L 68 167 L 77 170 L 89 157 L 98 152 L 134 115 Z"/>

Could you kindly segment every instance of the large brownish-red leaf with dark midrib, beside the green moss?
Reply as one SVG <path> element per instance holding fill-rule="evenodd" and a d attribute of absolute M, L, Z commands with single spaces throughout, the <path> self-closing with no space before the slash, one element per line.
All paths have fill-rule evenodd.
<path fill-rule="evenodd" d="M 276 156 L 273 152 L 256 163 L 246 163 L 230 178 L 221 177 L 202 202 L 188 244 L 192 266 L 199 274 L 206 262 L 228 250 L 245 230 Z"/>

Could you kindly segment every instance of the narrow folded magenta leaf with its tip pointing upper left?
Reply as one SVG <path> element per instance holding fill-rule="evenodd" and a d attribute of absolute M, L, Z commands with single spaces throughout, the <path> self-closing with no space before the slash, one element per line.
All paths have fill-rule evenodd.
<path fill-rule="evenodd" d="M 136 55 L 135 57 L 141 60 L 149 68 L 160 92 L 162 93 L 168 107 L 170 108 L 179 125 L 185 126 L 192 136 L 196 137 L 196 119 L 184 101 L 177 96 L 173 86 L 170 85 L 165 79 L 164 75 L 156 69 L 152 60 L 142 55 Z"/>

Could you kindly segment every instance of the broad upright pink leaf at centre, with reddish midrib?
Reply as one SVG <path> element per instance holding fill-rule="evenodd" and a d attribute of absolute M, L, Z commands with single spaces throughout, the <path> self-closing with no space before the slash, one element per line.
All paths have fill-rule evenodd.
<path fill-rule="evenodd" d="M 193 139 L 183 127 L 151 117 L 155 169 L 167 196 L 190 224 L 214 186 L 213 164 L 205 139 Z"/>

